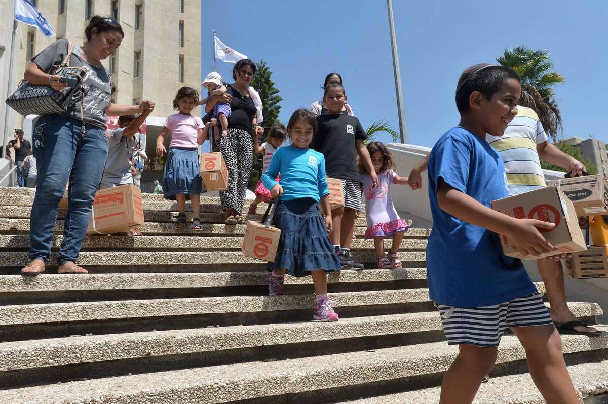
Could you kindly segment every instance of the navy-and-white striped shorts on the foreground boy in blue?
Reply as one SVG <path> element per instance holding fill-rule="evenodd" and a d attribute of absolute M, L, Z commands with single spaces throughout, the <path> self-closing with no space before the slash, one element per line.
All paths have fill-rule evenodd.
<path fill-rule="evenodd" d="M 438 304 L 437 307 L 449 345 L 471 344 L 494 348 L 499 345 L 506 327 L 553 324 L 541 293 L 496 306 L 451 307 Z"/>

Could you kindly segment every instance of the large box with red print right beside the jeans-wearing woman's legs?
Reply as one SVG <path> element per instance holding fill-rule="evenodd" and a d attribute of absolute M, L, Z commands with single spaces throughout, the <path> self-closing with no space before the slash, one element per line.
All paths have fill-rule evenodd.
<path fill-rule="evenodd" d="M 133 184 L 120 185 L 97 191 L 86 234 L 111 235 L 144 224 L 142 191 Z"/>

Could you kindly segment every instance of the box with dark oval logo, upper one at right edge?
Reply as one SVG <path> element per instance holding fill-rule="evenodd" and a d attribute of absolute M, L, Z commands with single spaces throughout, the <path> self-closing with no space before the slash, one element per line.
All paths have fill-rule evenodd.
<path fill-rule="evenodd" d="M 608 182 L 603 174 L 553 180 L 572 200 L 577 216 L 608 214 Z"/>

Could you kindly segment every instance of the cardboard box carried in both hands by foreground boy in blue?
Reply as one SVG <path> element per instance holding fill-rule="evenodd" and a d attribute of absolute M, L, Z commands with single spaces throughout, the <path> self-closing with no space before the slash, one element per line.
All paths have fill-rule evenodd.
<path fill-rule="evenodd" d="M 541 188 L 499 200 L 492 200 L 490 203 L 492 209 L 511 217 L 537 219 L 556 224 L 556 227 L 552 230 L 541 230 L 547 241 L 558 248 L 556 252 L 545 253 L 540 256 L 522 256 L 514 248 L 512 239 L 500 235 L 500 244 L 505 255 L 522 259 L 537 259 L 587 249 L 581 228 L 578 227 L 572 201 L 557 187 Z"/>

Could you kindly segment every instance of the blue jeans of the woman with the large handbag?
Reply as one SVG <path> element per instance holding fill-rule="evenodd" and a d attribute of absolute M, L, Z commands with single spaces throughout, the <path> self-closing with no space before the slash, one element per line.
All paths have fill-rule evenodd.
<path fill-rule="evenodd" d="M 108 158 L 102 128 L 65 115 L 44 115 L 33 135 L 38 183 L 30 217 L 30 259 L 50 258 L 57 205 L 67 192 L 68 207 L 58 265 L 75 262 L 91 219 L 97 185 Z"/>

